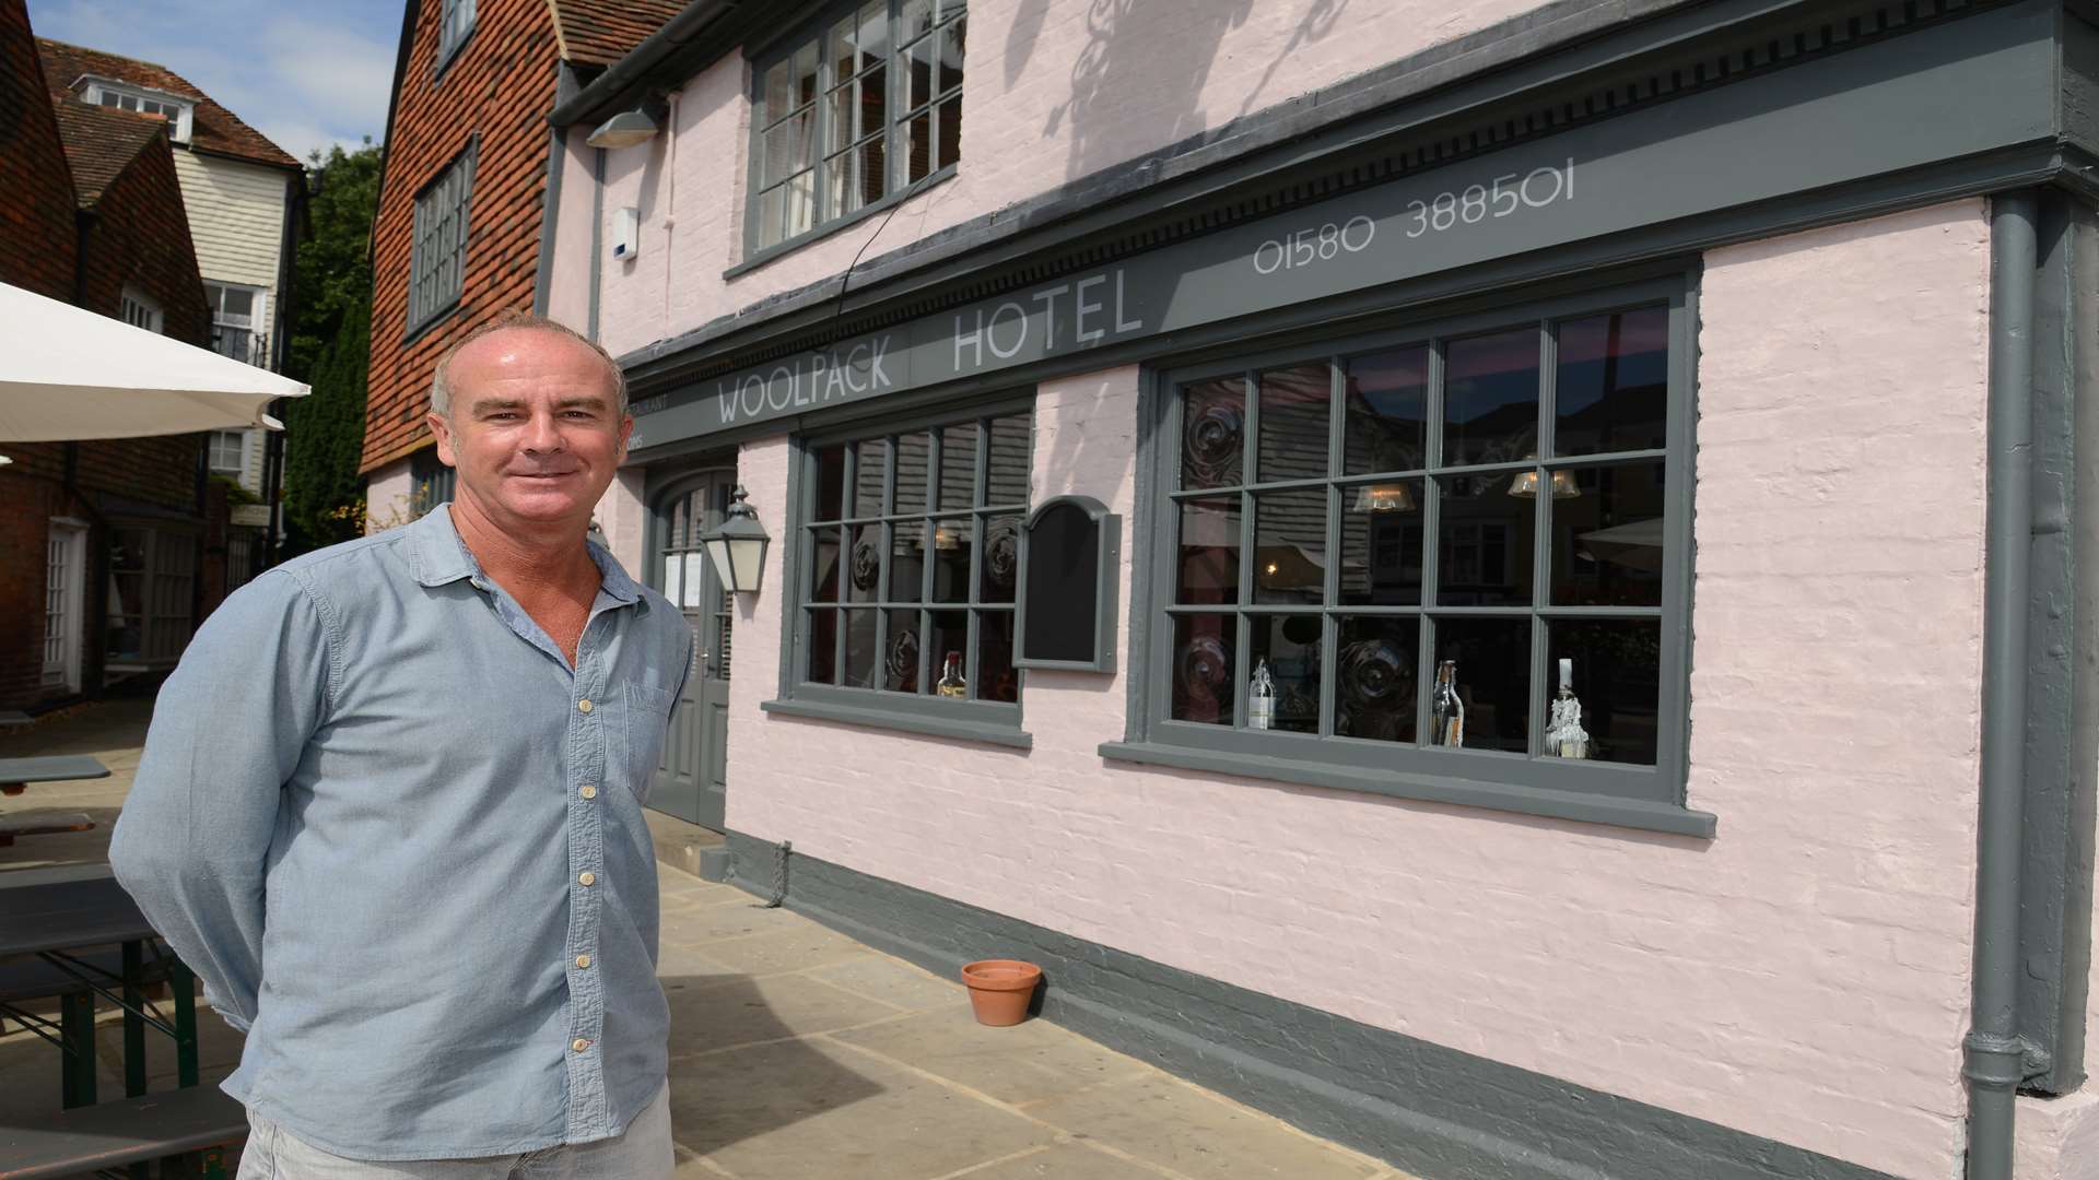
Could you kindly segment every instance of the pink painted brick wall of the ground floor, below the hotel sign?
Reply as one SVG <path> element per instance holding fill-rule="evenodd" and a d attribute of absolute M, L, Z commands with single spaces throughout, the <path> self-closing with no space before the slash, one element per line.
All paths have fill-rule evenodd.
<path fill-rule="evenodd" d="M 1706 258 L 1690 800 L 1719 813 L 1713 842 L 1102 762 L 1127 684 L 1083 674 L 1029 676 L 1024 754 L 766 716 L 772 678 L 739 678 L 728 823 L 1944 1180 L 1965 1115 L 1986 262 L 1977 202 Z M 1138 380 L 1039 388 L 1035 496 L 1136 517 Z M 783 519 L 785 439 L 745 445 L 739 475 Z M 779 605 L 741 605 L 743 649 L 779 645 Z"/>

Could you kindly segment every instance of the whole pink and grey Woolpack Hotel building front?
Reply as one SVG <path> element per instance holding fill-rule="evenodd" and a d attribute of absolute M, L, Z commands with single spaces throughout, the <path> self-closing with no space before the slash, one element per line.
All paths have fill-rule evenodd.
<path fill-rule="evenodd" d="M 2089 1178 L 2099 29 L 1524 8 L 699 2 L 558 103 L 653 806 L 1419 1176 Z"/>

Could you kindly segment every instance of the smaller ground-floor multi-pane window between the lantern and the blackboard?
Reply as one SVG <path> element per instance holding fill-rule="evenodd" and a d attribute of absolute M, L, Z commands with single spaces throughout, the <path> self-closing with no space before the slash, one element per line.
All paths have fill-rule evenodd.
<path fill-rule="evenodd" d="M 1024 403 L 804 445 L 785 695 L 1018 731 L 1031 456 Z"/>

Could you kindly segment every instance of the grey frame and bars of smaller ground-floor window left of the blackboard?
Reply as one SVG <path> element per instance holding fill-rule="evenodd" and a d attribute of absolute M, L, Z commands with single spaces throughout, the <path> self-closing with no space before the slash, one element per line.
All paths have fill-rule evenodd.
<path fill-rule="evenodd" d="M 882 523 L 884 525 L 884 580 L 879 586 L 888 586 L 888 563 L 894 542 L 890 540 L 888 525 L 896 521 L 926 521 L 928 529 L 932 521 L 970 517 L 972 527 L 978 533 L 978 546 L 982 544 L 984 529 L 982 521 L 993 517 L 1016 514 L 1026 519 L 1033 512 L 1033 504 L 991 504 L 989 502 L 989 466 L 991 466 L 991 445 L 989 426 L 978 437 L 976 447 L 976 489 L 984 489 L 984 502 L 976 504 L 976 493 L 972 491 L 972 506 L 959 510 L 940 510 L 938 506 L 938 470 L 940 470 L 940 430 L 947 426 L 957 426 L 963 422 L 991 422 L 993 418 L 1012 418 L 1026 414 L 1029 418 L 1029 487 L 1033 493 L 1033 451 L 1035 451 L 1035 395 L 1012 395 L 987 401 L 972 401 L 970 405 L 953 405 L 947 409 L 917 412 L 909 416 L 873 418 L 865 422 L 854 422 L 850 426 L 840 426 L 823 433 L 798 435 L 791 443 L 791 491 L 789 491 L 789 533 L 785 538 L 785 577 L 783 577 L 783 605 L 785 619 L 781 626 L 781 680 L 779 697 L 764 701 L 766 712 L 791 714 L 791 716 L 812 716 L 825 720 L 844 720 L 852 724 L 871 724 L 879 729 L 900 729 L 907 733 L 926 733 L 934 737 L 959 737 L 966 741 L 984 741 L 991 745 L 1010 745 L 1026 750 L 1033 745 L 1033 737 L 1022 729 L 1022 705 L 1026 701 L 1026 670 L 1014 668 L 1016 693 L 1014 703 L 1005 701 L 980 701 L 980 699 L 945 699 L 930 693 L 911 695 L 894 693 L 888 689 L 848 689 L 844 684 L 817 684 L 802 678 L 806 668 L 806 651 L 810 645 L 810 611 L 808 598 L 802 586 L 804 573 L 814 563 L 814 529 L 817 521 L 810 512 L 817 504 L 817 481 L 821 477 L 819 454 L 827 447 L 840 443 L 861 443 L 869 439 L 888 439 L 896 435 L 926 433 L 930 437 L 930 449 L 926 454 L 928 466 L 928 504 L 919 512 L 894 512 L 896 508 L 896 454 L 894 449 L 884 462 L 884 512 L 877 517 L 854 517 L 852 514 L 852 489 L 856 479 L 858 456 L 846 451 L 844 470 L 844 502 L 840 504 L 838 521 L 823 521 L 823 527 L 840 529 L 840 594 L 844 594 L 846 575 L 844 567 L 850 556 L 850 531 L 856 525 Z M 928 531 L 928 538 L 932 533 Z M 1016 538 L 1018 540 L 1018 538 Z M 932 577 L 932 565 L 928 563 L 926 577 Z M 1020 634 L 1018 634 L 1018 609 L 1020 609 L 1020 588 L 1026 582 L 1026 569 L 1014 571 L 1014 600 L 1012 603 L 984 603 L 980 596 L 982 582 L 982 550 L 970 563 L 970 594 L 963 603 L 932 603 L 926 586 L 921 586 L 921 598 L 917 603 L 890 603 L 886 598 L 869 603 L 852 603 L 852 609 L 869 609 L 875 613 L 875 651 L 884 651 L 888 640 L 888 615 L 892 609 L 919 609 L 919 611 L 961 611 L 968 613 L 968 640 L 966 640 L 966 666 L 970 668 L 970 682 L 980 680 L 978 657 L 980 657 L 980 628 L 978 617 L 984 611 L 1005 611 L 1014 617 L 1014 655 L 1020 655 Z M 838 609 L 844 613 L 848 605 L 842 600 Z M 838 628 L 840 651 L 833 653 L 835 666 L 844 666 L 844 642 L 846 628 Z M 938 676 L 932 668 L 932 647 L 921 645 L 919 649 L 919 682 L 930 684 Z"/>

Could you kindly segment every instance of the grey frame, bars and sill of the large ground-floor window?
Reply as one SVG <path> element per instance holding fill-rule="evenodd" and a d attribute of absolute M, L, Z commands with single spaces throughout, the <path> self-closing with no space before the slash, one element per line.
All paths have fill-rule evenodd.
<path fill-rule="evenodd" d="M 1627 607 L 1551 607 L 1547 605 L 1545 582 L 1549 577 L 1534 577 L 1534 598 L 1530 607 L 1507 607 L 1507 609 L 1450 609 L 1450 607 L 1381 607 L 1381 609 L 1354 609 L 1354 607 L 1320 607 L 1322 611 L 1322 645 L 1331 647 L 1335 642 L 1335 624 L 1331 615 L 1337 613 L 1392 613 L 1408 617 L 1465 617 L 1465 615 L 1497 615 L 1497 617 L 1530 617 L 1530 619 L 1553 619 L 1553 617 L 1654 617 L 1660 624 L 1660 668 L 1658 668 L 1658 701 L 1656 701 L 1656 764 L 1652 768 L 1616 764 L 1616 762 L 1574 762 L 1543 756 L 1536 750 L 1536 731 L 1543 718 L 1545 699 L 1545 676 L 1547 676 L 1547 655 L 1545 645 L 1539 640 L 1543 634 L 1532 628 L 1532 655 L 1530 655 L 1530 701 L 1532 701 L 1532 750 L 1528 754 L 1494 752 L 1494 750 L 1446 750 L 1421 743 L 1396 743 L 1396 741 L 1371 741 L 1371 739 L 1350 739 L 1350 737 L 1320 737 L 1303 733 L 1282 733 L 1282 731 L 1249 731 L 1245 724 L 1245 693 L 1234 691 L 1234 724 L 1205 724 L 1205 722 L 1182 722 L 1171 718 L 1171 668 L 1173 668 L 1173 628 L 1169 624 L 1175 613 L 1230 613 L 1245 619 L 1249 609 L 1253 613 L 1270 611 L 1270 607 L 1249 605 L 1241 596 L 1234 605 L 1220 607 L 1178 607 L 1175 605 L 1175 559 L 1178 559 L 1178 527 L 1180 500 L 1175 489 L 1180 487 L 1180 395 L 1178 388 L 1188 382 L 1201 382 L 1217 376 L 1232 374 L 1255 374 L 1276 365 L 1303 363 L 1303 361 L 1341 361 L 1352 355 L 1400 349 L 1411 344 L 1427 344 L 1434 340 L 1448 340 L 1457 336 L 1473 336 L 1497 330 L 1513 330 L 1524 325 L 1541 328 L 1541 391 L 1539 391 L 1539 449 L 1547 451 L 1549 430 L 1553 424 L 1553 378 L 1555 365 L 1551 363 L 1549 349 L 1553 346 L 1553 323 L 1566 319 L 1578 319 L 1589 315 L 1602 315 L 1610 311 L 1629 311 L 1637 307 L 1669 307 L 1669 393 L 1667 393 L 1667 447 L 1658 451 L 1610 451 L 1604 456 L 1576 456 L 1576 458 L 1551 458 L 1534 460 L 1545 470 L 1574 470 L 1574 468 L 1595 468 L 1610 464 L 1625 464 L 1637 460 L 1662 460 L 1665 462 L 1665 491 L 1662 491 L 1662 605 L 1646 609 Z M 1555 296 L 1539 298 L 1528 302 L 1507 302 L 1488 311 L 1471 311 L 1440 317 L 1415 317 L 1415 319 L 1394 319 L 1387 328 L 1369 334 L 1356 334 L 1348 338 L 1318 338 L 1289 346 L 1272 346 L 1251 353 L 1238 353 L 1217 361 L 1201 361 L 1180 367 L 1161 367 L 1152 374 L 1152 386 L 1148 391 L 1150 401 L 1150 456 L 1146 460 L 1148 477 L 1148 504 L 1140 512 L 1140 521 L 1148 529 L 1150 542 L 1140 542 L 1138 552 L 1148 552 L 1142 559 L 1146 569 L 1140 571 L 1140 590 L 1131 594 L 1136 598 L 1131 611 L 1131 655 L 1133 676 L 1131 676 L 1131 710 L 1129 710 L 1129 735 L 1121 743 L 1102 745 L 1102 754 L 1108 758 L 1123 758 L 1136 762 L 1163 762 L 1186 768 L 1209 768 L 1222 773 L 1238 773 L 1249 777 L 1282 779 L 1310 785 L 1331 785 L 1343 789 L 1360 789 L 1373 794 L 1387 794 L 1400 798 L 1436 800 L 1436 802 L 1461 802 L 1476 806 L 1494 806 L 1505 810 L 1522 810 L 1532 815 L 1551 815 L 1562 819 L 1591 819 L 1604 823 L 1618 823 L 1629 827 L 1650 827 L 1662 831 L 1677 831 L 1690 836 L 1711 836 L 1713 817 L 1704 813 L 1694 813 L 1683 806 L 1685 781 L 1688 781 L 1688 703 L 1690 703 L 1690 592 L 1692 592 L 1692 489 L 1694 489 L 1694 418 L 1696 418 L 1696 283 L 1690 277 L 1669 277 L 1644 283 L 1616 286 L 1606 290 L 1595 290 L 1576 296 Z M 1383 479 L 1421 479 L 1423 487 L 1432 477 L 1446 470 L 1478 470 L 1478 466 L 1457 466 L 1442 464 L 1442 351 L 1434 353 L 1436 374 L 1429 380 L 1429 393 L 1425 403 L 1427 416 L 1427 451 L 1425 466 L 1417 472 L 1385 472 Z M 1345 414 L 1341 414 L 1341 376 L 1335 376 L 1335 409 L 1331 412 L 1329 428 L 1337 439 L 1345 426 Z M 1253 456 L 1259 454 L 1259 412 L 1251 407 L 1247 414 L 1247 426 L 1243 433 L 1243 456 L 1245 456 L 1245 489 L 1266 487 L 1257 483 L 1259 472 L 1253 466 Z M 1549 451 L 1547 451 L 1549 454 Z M 1507 464 L 1503 464 L 1507 466 Z M 1524 464 L 1530 466 L 1530 464 Z M 1329 460 L 1329 475 L 1324 483 L 1331 485 L 1337 479 L 1356 479 L 1348 475 L 1335 475 L 1333 460 Z M 1427 496 L 1423 504 L 1423 598 L 1427 598 L 1427 588 L 1434 584 L 1434 563 L 1436 563 L 1436 493 Z M 1541 523 L 1543 514 L 1551 510 L 1551 498 L 1539 498 Z M 1337 527 L 1333 521 L 1335 502 L 1329 498 L 1329 529 Z M 1251 514 L 1243 512 L 1241 521 L 1241 552 L 1249 550 L 1247 531 L 1253 529 Z M 1543 548 L 1543 540 L 1536 542 Z M 1532 554 L 1532 561 L 1539 561 Z M 1251 561 L 1241 559 L 1243 582 L 1251 575 Z M 1534 567 L 1536 569 L 1536 567 Z M 1234 684 L 1245 684 L 1251 659 L 1249 645 L 1245 640 L 1245 628 L 1241 628 L 1241 638 L 1234 645 Z M 1434 651 L 1417 653 L 1419 668 L 1434 668 Z M 1322 729 L 1331 724 L 1333 714 L 1333 659 L 1322 659 Z M 1417 670 L 1417 676 L 1427 676 L 1427 672 Z M 1427 678 L 1417 678 L 1417 684 L 1427 684 Z M 1425 693 L 1423 693 L 1425 695 Z M 1425 705 L 1423 705 L 1425 708 Z"/>

